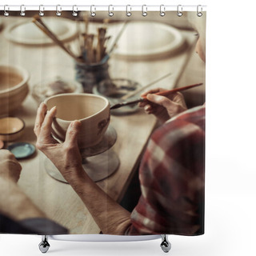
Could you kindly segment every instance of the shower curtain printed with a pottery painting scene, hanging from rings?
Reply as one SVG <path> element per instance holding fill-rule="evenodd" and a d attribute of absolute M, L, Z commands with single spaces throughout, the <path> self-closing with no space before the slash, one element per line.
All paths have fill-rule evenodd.
<path fill-rule="evenodd" d="M 203 234 L 206 12 L 0 15 L 0 233 Z"/>

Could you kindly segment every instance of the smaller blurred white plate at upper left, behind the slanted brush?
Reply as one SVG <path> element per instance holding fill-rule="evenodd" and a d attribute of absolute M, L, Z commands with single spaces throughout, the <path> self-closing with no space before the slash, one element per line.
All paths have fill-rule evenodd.
<path fill-rule="evenodd" d="M 69 41 L 77 35 L 75 23 L 66 18 L 42 18 L 42 21 L 46 23 L 46 26 L 48 26 L 61 41 Z M 6 28 L 5 37 L 12 42 L 26 45 L 54 44 L 31 19 Z"/>

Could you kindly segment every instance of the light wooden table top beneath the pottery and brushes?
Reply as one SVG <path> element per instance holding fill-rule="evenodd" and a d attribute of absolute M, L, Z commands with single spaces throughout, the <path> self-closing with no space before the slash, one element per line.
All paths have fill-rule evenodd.
<path fill-rule="evenodd" d="M 10 17 L 8 22 L 15 22 L 17 19 Z M 182 33 L 186 34 L 189 42 L 194 40 L 193 33 L 186 31 Z M 2 32 L 0 33 L 0 42 L 0 64 L 15 64 L 29 70 L 30 87 L 34 86 L 36 82 L 56 74 L 74 78 L 73 60 L 57 46 L 18 45 L 7 41 Z M 172 88 L 177 84 L 181 69 L 184 68 L 189 55 L 190 53 L 185 51 L 172 58 L 154 62 L 126 62 L 111 58 L 110 75 L 112 78 L 130 78 L 146 85 L 171 70 L 173 75 L 156 86 Z M 188 78 L 184 81 L 186 81 L 186 85 L 190 82 L 202 82 L 190 81 Z M 23 118 L 26 122 L 25 134 L 19 141 L 35 144 L 33 128 L 37 108 L 38 105 L 34 98 L 29 95 L 22 107 L 14 112 L 14 115 Z M 97 184 L 111 198 L 120 202 L 134 170 L 138 167 L 146 142 L 154 130 L 155 119 L 140 110 L 135 114 L 111 116 L 110 124 L 118 134 L 113 150 L 118 154 L 120 166 L 113 175 Z M 70 234 L 98 234 L 100 232 L 86 206 L 83 205 L 70 185 L 58 182 L 46 173 L 43 155 L 40 151 L 37 150 L 33 157 L 20 162 L 22 175 L 18 185 L 40 209 L 46 212 L 49 218 L 66 226 L 70 230 Z"/>

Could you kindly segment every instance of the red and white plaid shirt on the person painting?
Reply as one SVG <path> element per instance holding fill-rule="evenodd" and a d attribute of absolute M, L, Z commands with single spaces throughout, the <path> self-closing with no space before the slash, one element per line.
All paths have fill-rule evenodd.
<path fill-rule="evenodd" d="M 203 234 L 204 162 L 205 106 L 155 130 L 142 158 L 142 195 L 126 234 Z"/>

